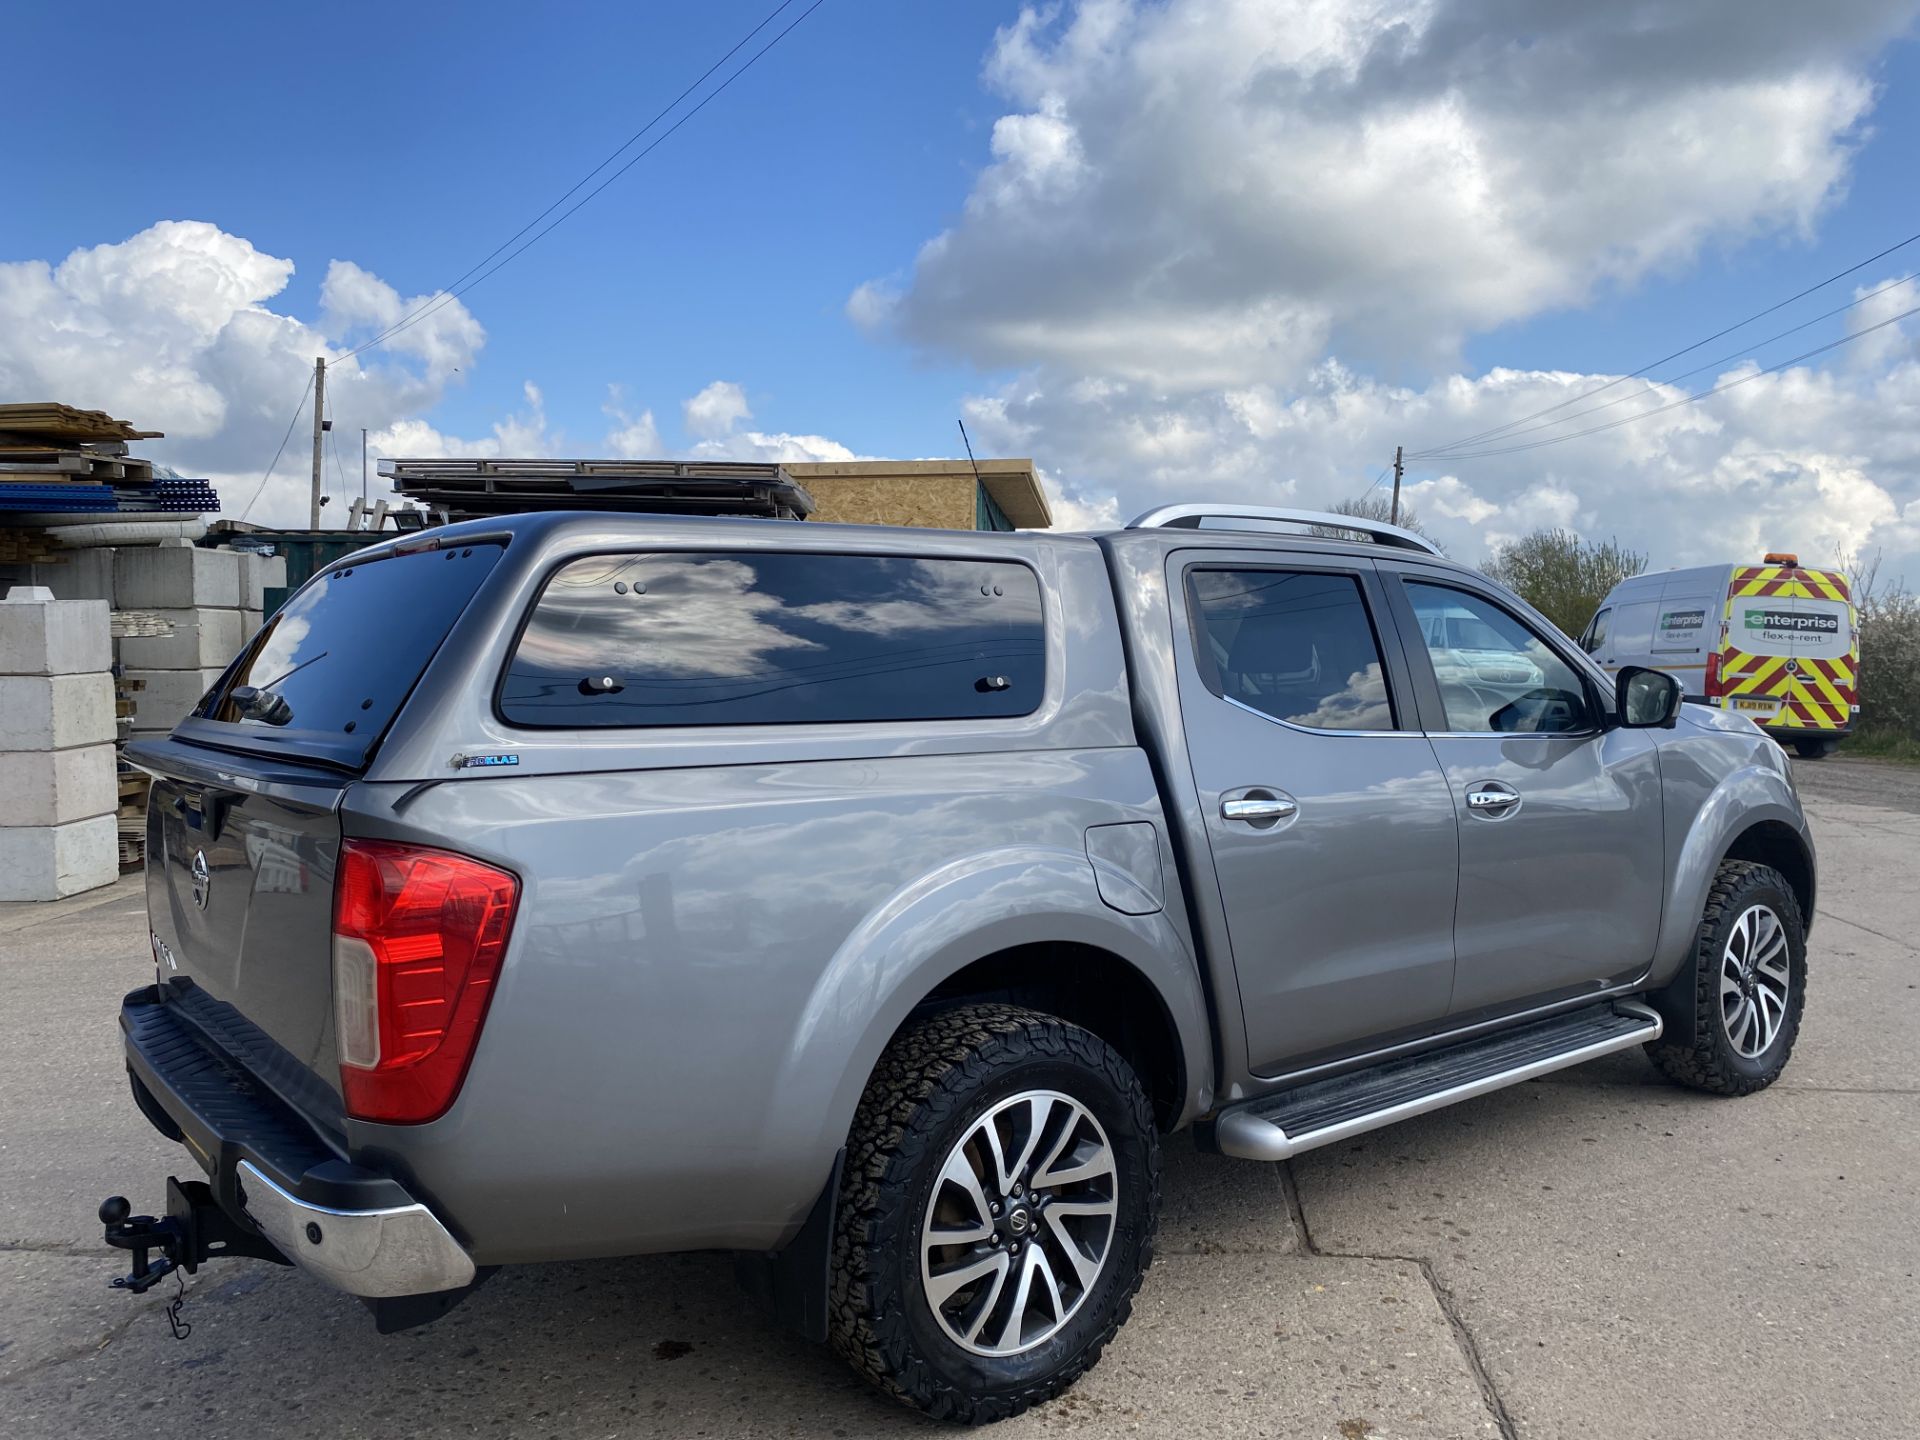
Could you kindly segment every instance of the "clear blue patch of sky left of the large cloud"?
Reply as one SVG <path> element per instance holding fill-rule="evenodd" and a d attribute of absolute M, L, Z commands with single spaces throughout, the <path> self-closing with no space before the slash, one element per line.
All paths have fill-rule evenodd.
<path fill-rule="evenodd" d="M 8 121 L 25 165 L 10 175 L 0 257 L 60 257 L 157 219 L 205 219 L 296 261 L 276 301 L 296 313 L 311 313 L 340 255 L 403 294 L 428 292 L 768 10 L 227 6 L 219 25 L 182 25 L 154 6 L 42 6 L 25 17 L 23 54 L 81 50 L 100 73 L 167 83 L 159 94 L 106 84 L 84 106 Z M 998 113 L 979 56 L 1014 13 L 829 0 L 472 292 L 488 346 L 434 420 L 484 428 L 532 378 L 557 424 L 597 436 L 605 386 L 618 382 L 672 432 L 674 403 L 726 374 L 781 428 L 874 453 L 956 445 L 968 374 L 902 365 L 843 305 L 910 261 L 966 198 Z M 77 192 L 73 175 L 90 182 Z"/>

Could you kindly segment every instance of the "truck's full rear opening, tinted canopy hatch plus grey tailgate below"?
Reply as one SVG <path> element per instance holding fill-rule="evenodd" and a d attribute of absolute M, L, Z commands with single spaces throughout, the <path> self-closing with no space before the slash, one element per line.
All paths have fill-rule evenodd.
<path fill-rule="evenodd" d="M 313 1085 L 338 1092 L 340 1081 L 330 950 L 342 799 L 499 553 L 336 564 L 173 735 L 127 747 L 154 776 L 146 883 L 161 993 L 309 1116 Z"/>

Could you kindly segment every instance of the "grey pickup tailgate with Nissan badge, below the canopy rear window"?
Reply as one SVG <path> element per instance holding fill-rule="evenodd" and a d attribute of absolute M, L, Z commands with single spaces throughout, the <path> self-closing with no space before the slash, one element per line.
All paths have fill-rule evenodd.
<path fill-rule="evenodd" d="M 180 741 L 127 758 L 154 776 L 146 910 L 163 995 L 284 1100 L 338 1112 L 330 947 L 348 778 Z"/>

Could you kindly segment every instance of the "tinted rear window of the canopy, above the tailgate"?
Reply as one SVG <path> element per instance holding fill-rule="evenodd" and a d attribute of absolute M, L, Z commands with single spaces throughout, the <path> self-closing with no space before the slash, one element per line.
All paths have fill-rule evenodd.
<path fill-rule="evenodd" d="M 275 612 L 196 714 L 236 741 L 363 760 L 499 555 L 468 545 L 334 564 Z M 242 707 L 242 685 L 269 699 Z"/>

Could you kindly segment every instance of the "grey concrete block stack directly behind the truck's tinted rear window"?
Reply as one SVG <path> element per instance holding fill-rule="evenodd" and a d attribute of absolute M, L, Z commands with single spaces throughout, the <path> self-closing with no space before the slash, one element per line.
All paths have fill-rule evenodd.
<path fill-rule="evenodd" d="M 119 641 L 132 695 L 134 735 L 173 730 L 261 626 L 263 591 L 286 584 L 286 561 L 188 543 L 123 547 L 113 555 L 113 607 L 150 611 L 167 636 Z"/>

